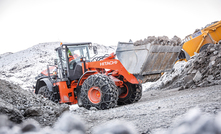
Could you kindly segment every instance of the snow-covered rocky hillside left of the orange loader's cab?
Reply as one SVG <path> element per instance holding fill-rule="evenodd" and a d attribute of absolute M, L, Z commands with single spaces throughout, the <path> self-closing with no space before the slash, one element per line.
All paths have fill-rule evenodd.
<path fill-rule="evenodd" d="M 56 56 L 54 49 L 59 42 L 40 43 L 26 50 L 8 54 L 0 58 L 0 78 L 19 84 L 23 89 L 31 89 L 35 77 Z"/>

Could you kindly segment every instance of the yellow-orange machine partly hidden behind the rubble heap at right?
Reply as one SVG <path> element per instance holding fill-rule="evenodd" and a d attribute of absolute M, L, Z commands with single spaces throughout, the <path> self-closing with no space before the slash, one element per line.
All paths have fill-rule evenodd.
<path fill-rule="evenodd" d="M 182 41 L 179 61 L 189 60 L 194 53 L 200 53 L 210 44 L 217 44 L 221 40 L 221 21 L 212 22 L 201 30 L 196 30 Z"/>

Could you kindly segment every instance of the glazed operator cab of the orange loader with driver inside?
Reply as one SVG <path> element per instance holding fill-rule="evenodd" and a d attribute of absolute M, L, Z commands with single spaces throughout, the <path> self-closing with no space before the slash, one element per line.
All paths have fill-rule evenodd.
<path fill-rule="evenodd" d="M 78 80 L 82 74 L 82 62 L 90 61 L 90 54 L 87 43 L 62 44 L 56 48 L 58 55 L 58 77 Z"/>

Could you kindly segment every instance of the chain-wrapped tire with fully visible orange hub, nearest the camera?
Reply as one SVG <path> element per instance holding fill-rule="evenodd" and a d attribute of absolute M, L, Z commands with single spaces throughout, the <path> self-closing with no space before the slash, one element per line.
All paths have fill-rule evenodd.
<path fill-rule="evenodd" d="M 118 90 L 115 83 L 106 75 L 95 74 L 89 76 L 81 88 L 80 99 L 86 109 L 113 108 L 117 104 Z"/>

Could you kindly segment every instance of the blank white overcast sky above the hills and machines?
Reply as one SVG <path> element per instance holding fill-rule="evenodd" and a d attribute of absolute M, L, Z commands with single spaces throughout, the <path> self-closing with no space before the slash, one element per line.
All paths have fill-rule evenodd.
<path fill-rule="evenodd" d="M 221 0 L 0 0 L 0 54 L 43 42 L 184 38 L 221 20 Z"/>

